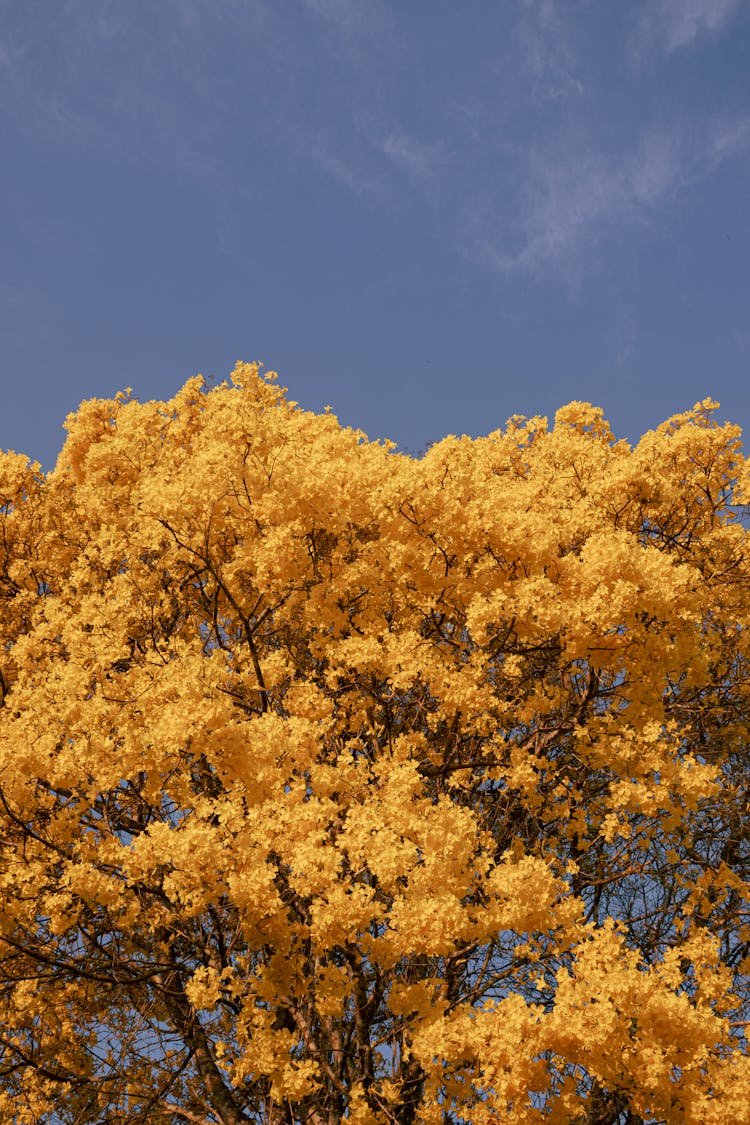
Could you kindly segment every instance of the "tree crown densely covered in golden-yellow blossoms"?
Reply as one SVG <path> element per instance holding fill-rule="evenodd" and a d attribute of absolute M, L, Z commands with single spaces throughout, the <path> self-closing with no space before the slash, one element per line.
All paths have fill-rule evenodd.
<path fill-rule="evenodd" d="M 750 472 L 273 376 L 0 454 L 0 1117 L 750 1122 Z"/>

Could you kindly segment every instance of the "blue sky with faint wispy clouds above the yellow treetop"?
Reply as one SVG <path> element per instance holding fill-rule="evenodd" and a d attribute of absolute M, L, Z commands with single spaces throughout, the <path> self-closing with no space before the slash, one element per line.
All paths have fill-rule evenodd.
<path fill-rule="evenodd" d="M 750 430 L 748 0 L 0 0 L 0 447 L 235 360 L 418 449 Z"/>

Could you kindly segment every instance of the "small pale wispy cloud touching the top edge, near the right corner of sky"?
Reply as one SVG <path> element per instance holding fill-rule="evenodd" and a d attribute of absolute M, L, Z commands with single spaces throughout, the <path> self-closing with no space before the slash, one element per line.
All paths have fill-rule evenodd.
<path fill-rule="evenodd" d="M 725 30 L 743 0 L 648 0 L 638 21 L 636 57 L 657 51 L 672 54 L 693 47 L 706 35 Z"/>

